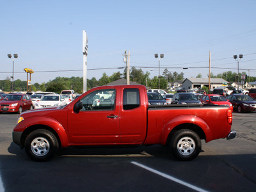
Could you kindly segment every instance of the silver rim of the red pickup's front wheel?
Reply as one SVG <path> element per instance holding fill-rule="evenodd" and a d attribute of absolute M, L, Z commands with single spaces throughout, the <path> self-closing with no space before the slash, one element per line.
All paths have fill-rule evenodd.
<path fill-rule="evenodd" d="M 50 143 L 45 138 L 35 138 L 31 142 L 31 150 L 36 156 L 45 156 L 50 150 Z"/>

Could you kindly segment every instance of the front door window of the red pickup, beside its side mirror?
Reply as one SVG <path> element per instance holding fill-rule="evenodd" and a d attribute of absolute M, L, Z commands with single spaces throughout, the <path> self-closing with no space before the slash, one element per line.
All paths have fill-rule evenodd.
<path fill-rule="evenodd" d="M 115 109 L 116 90 L 99 90 L 81 99 L 81 111 L 103 111 Z"/>

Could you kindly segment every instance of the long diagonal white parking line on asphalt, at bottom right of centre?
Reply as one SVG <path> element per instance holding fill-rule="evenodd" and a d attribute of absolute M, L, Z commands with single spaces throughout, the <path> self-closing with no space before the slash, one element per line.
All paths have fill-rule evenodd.
<path fill-rule="evenodd" d="M 196 186 L 193 186 L 193 185 L 189 184 L 188 182 L 184 182 L 183 180 L 176 179 L 175 177 L 172 177 L 170 175 L 166 175 L 165 173 L 161 173 L 161 172 L 159 172 L 157 170 L 154 170 L 154 169 L 152 169 L 152 168 L 150 168 L 148 166 L 145 166 L 143 164 L 137 163 L 136 161 L 132 161 L 131 163 L 135 164 L 137 166 L 140 166 L 141 168 L 144 168 L 145 170 L 148 170 L 150 172 L 156 173 L 157 175 L 160 175 L 160 176 L 162 176 L 162 177 L 164 177 L 166 179 L 170 179 L 170 180 L 172 180 L 174 182 L 182 184 L 183 186 L 186 186 L 188 188 L 194 189 L 195 191 L 206 192 L 204 189 L 201 189 L 201 188 L 198 188 Z"/>

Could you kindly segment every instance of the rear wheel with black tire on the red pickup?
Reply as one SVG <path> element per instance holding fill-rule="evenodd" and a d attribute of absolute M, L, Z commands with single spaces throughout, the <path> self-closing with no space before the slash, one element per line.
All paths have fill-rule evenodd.
<path fill-rule="evenodd" d="M 190 161 L 198 156 L 202 143 L 196 132 L 182 129 L 173 134 L 169 147 L 177 159 Z"/>

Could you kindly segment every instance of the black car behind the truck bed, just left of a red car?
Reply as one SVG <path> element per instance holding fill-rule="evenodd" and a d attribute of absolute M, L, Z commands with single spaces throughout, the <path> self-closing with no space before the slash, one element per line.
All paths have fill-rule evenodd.
<path fill-rule="evenodd" d="M 202 104 L 193 93 L 175 93 L 172 104 Z"/>

